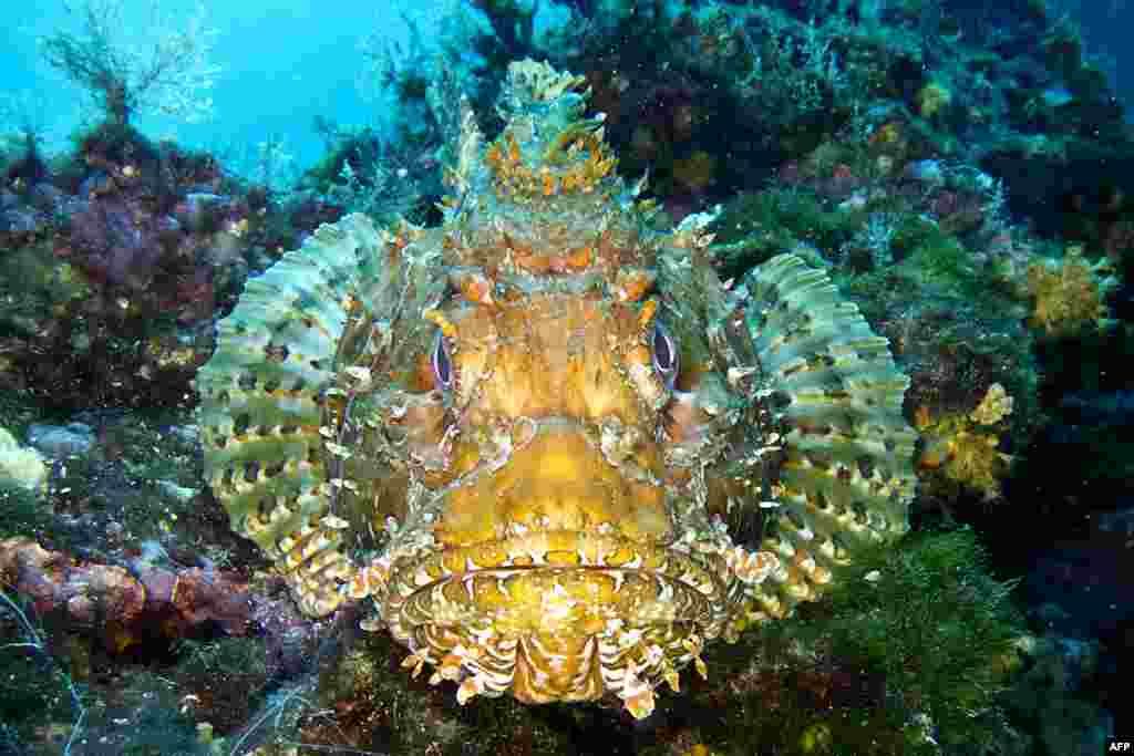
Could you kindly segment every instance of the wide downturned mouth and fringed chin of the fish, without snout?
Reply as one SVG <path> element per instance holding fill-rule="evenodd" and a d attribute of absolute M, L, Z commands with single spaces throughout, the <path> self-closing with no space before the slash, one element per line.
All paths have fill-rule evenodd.
<path fill-rule="evenodd" d="M 611 534 L 531 533 L 396 568 L 384 619 L 439 679 L 528 703 L 586 700 L 652 688 L 720 635 L 723 569 Z"/>

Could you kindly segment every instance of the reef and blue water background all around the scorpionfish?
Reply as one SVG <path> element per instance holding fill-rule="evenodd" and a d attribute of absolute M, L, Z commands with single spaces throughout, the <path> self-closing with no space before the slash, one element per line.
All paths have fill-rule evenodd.
<path fill-rule="evenodd" d="M 1134 737 L 1125 2 L 6 12 L 0 754 L 1063 756 Z M 564 169 L 576 189 L 646 177 L 643 238 L 693 239 L 738 297 L 784 253 L 822 271 L 908 376 L 909 532 L 691 652 L 706 677 L 659 686 L 645 716 L 411 677 L 366 602 L 305 611 L 218 484 L 210 360 L 239 346 L 219 324 L 263 296 L 249 282 L 352 213 L 400 249 L 483 207 L 469 134 L 510 192 L 567 192 L 510 152 L 525 59 L 582 77 L 586 150 L 617 156 Z"/>

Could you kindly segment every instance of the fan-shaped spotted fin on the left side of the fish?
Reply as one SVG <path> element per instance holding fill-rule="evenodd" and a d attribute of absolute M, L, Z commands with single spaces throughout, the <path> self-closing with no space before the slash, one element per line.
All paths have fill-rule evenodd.
<path fill-rule="evenodd" d="M 346 368 L 374 360 L 390 321 L 445 286 L 440 261 L 398 255 L 414 232 L 398 237 L 359 214 L 320 227 L 248 281 L 196 377 L 209 483 L 232 529 L 276 561 L 310 614 L 335 610 L 354 575 L 342 518 L 330 516 L 344 478 L 329 416 L 352 390 Z"/>

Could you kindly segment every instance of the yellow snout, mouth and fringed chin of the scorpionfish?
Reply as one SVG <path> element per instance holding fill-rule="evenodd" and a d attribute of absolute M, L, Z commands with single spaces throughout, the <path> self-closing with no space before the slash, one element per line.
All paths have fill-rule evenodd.
<path fill-rule="evenodd" d="M 382 620 L 458 697 L 613 693 L 644 712 L 723 632 L 728 564 L 684 537 L 654 447 L 616 455 L 578 423 L 532 425 L 507 464 L 426 504 L 429 538 L 390 564 Z"/>

